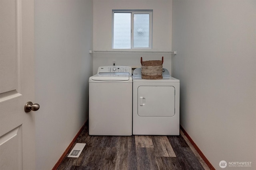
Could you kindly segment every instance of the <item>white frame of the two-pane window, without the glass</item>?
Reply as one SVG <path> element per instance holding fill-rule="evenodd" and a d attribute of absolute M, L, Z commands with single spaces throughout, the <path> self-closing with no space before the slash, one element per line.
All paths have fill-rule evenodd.
<path fill-rule="evenodd" d="M 153 10 L 112 10 L 112 49 L 114 48 L 114 13 L 131 14 L 131 42 L 129 49 L 152 49 L 152 27 L 153 27 Z M 148 47 L 134 47 L 134 14 L 149 14 L 149 44 Z"/>

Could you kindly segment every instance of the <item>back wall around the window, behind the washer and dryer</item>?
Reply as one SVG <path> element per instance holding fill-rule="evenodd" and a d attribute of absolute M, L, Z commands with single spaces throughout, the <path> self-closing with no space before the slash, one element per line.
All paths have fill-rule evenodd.
<path fill-rule="evenodd" d="M 112 10 L 153 10 L 152 49 L 148 51 L 171 51 L 172 49 L 172 0 L 94 0 L 93 1 L 93 50 L 112 51 Z M 127 50 L 126 50 L 127 51 Z M 140 50 L 138 50 L 140 51 Z M 145 50 L 143 50 L 145 51 Z M 94 53 L 94 74 L 99 66 L 117 65 L 139 67 L 143 60 L 161 60 L 171 71 L 170 53 Z"/>

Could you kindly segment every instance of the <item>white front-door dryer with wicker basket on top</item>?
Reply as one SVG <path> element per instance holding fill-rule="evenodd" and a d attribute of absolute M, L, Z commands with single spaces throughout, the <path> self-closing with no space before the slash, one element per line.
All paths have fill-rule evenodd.
<path fill-rule="evenodd" d="M 141 78 L 133 72 L 133 135 L 180 134 L 180 80 L 163 68 L 162 79 Z"/>

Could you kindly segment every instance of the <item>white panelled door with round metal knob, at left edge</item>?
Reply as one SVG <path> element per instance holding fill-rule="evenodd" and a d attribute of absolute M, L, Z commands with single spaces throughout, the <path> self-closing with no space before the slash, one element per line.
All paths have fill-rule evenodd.
<path fill-rule="evenodd" d="M 0 170 L 35 169 L 34 2 L 0 0 Z"/>

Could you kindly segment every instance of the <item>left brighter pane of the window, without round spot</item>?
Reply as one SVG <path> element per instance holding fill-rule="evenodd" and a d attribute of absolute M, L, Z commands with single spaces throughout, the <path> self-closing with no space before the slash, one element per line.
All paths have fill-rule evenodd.
<path fill-rule="evenodd" d="M 131 48 L 131 13 L 114 13 L 113 48 Z"/>

